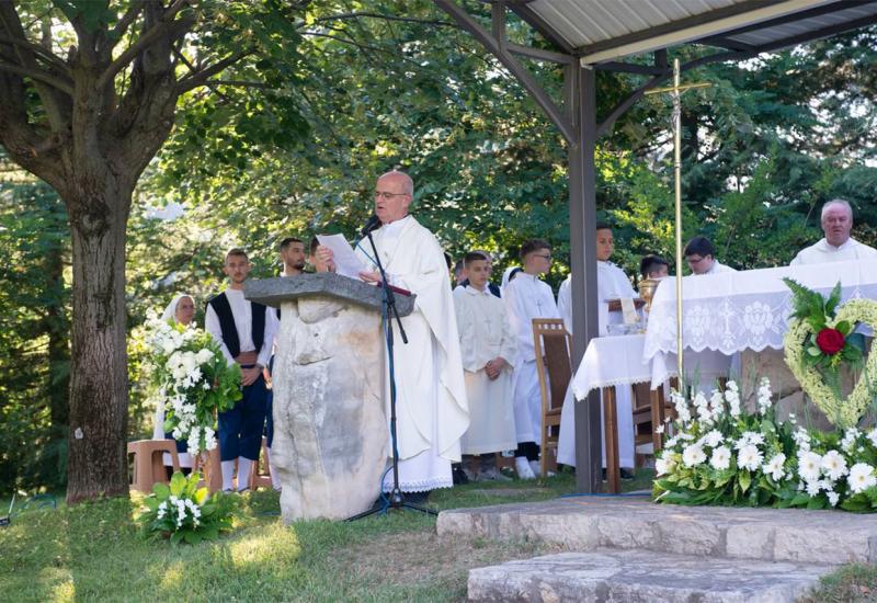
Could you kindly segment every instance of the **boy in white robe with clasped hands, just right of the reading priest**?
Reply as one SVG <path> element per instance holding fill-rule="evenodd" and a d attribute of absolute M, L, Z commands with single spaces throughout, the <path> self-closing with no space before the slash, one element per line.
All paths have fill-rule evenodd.
<path fill-rule="evenodd" d="M 460 441 L 463 454 L 481 455 L 476 479 L 508 479 L 497 470 L 493 455 L 517 446 L 512 408 L 517 340 L 505 305 L 488 288 L 489 260 L 476 251 L 463 261 L 468 285 L 454 289 L 470 419 Z"/>

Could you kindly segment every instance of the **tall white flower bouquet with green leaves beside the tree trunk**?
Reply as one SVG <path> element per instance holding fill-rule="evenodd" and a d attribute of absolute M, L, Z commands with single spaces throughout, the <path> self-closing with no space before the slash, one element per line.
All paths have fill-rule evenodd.
<path fill-rule="evenodd" d="M 229 410 L 241 398 L 241 372 L 229 366 L 203 329 L 147 319 L 150 377 L 158 403 L 164 405 L 164 432 L 184 440 L 197 455 L 216 447 L 215 412 Z"/>

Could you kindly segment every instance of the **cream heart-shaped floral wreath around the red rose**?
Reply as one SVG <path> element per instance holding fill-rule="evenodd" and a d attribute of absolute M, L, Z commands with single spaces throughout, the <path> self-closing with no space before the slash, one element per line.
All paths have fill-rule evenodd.
<path fill-rule="evenodd" d="M 867 325 L 877 332 L 877 302 L 851 299 L 840 307 L 836 316 L 825 322 L 825 327 L 834 330 L 842 322 Z M 855 426 L 877 392 L 877 353 L 868 355 L 862 376 L 850 396 L 839 397 L 838 392 L 825 384 L 825 379 L 819 371 L 805 363 L 805 354 L 808 353 L 805 343 L 811 334 L 817 333 L 807 320 L 795 318 L 789 322 L 788 331 L 783 340 L 786 364 L 800 383 L 804 392 L 832 424 L 841 429 Z"/>

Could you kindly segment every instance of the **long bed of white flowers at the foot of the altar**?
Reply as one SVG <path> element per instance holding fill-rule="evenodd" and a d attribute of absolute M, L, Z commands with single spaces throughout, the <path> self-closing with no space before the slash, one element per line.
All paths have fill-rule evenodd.
<path fill-rule="evenodd" d="M 734 382 L 691 402 L 672 396 L 679 417 L 656 459 L 657 501 L 877 512 L 877 429 L 825 433 L 777 422 L 766 379 L 754 412 L 742 408 Z"/>

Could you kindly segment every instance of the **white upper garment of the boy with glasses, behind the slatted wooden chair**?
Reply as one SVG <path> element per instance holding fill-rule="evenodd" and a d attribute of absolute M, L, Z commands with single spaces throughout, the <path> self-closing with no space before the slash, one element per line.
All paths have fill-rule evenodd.
<path fill-rule="evenodd" d="M 560 318 L 551 287 L 533 274 L 519 272 L 514 281 L 505 286 L 502 298 L 509 312 L 509 323 L 517 337 L 519 361 L 536 360 L 533 319 Z"/>

